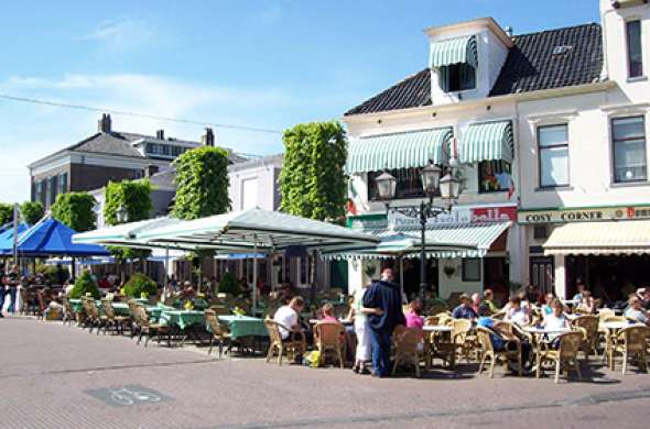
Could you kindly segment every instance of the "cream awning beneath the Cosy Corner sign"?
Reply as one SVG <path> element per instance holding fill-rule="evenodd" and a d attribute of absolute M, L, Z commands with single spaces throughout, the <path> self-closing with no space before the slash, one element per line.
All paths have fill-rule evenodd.
<path fill-rule="evenodd" d="M 566 223 L 551 232 L 543 248 L 546 255 L 650 253 L 650 220 Z"/>

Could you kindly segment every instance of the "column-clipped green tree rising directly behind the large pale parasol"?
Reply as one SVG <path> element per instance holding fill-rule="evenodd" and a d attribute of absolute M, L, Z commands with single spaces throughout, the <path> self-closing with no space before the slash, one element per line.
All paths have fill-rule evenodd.
<path fill-rule="evenodd" d="M 193 148 L 174 161 L 176 218 L 197 219 L 228 211 L 228 151 L 212 146 Z"/>

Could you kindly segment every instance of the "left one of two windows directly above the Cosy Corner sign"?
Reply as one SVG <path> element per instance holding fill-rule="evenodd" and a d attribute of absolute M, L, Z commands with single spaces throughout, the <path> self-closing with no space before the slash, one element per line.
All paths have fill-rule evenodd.
<path fill-rule="evenodd" d="M 540 154 L 540 187 L 568 186 L 567 125 L 538 129 Z"/>

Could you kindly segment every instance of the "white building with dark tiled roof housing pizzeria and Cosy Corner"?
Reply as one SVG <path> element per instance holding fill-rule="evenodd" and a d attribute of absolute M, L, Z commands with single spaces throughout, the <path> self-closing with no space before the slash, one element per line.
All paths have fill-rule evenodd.
<path fill-rule="evenodd" d="M 408 211 L 426 197 L 422 169 L 454 158 L 463 191 L 427 220 L 427 241 L 477 249 L 429 252 L 429 287 L 442 298 L 487 287 L 506 297 L 509 282 L 567 297 L 582 278 L 616 299 L 624 284 L 644 282 L 650 4 L 599 8 L 600 23 L 529 34 L 491 18 L 426 29 L 429 67 L 344 113 L 349 224 L 411 234 L 414 220 L 387 219 L 378 176 L 396 178 L 391 206 Z M 401 273 L 409 295 L 420 263 Z M 348 265 L 350 289 L 371 264 L 382 265 Z"/>

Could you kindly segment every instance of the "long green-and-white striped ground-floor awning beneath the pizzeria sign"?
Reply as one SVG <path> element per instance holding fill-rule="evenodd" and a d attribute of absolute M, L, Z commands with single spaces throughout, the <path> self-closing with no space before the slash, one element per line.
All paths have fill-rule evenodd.
<path fill-rule="evenodd" d="M 427 257 L 483 257 L 511 222 L 435 226 L 426 230 Z M 367 260 L 420 257 L 418 228 L 396 231 L 375 231 L 381 242 L 377 246 L 332 250 L 323 253 L 329 260 Z"/>

